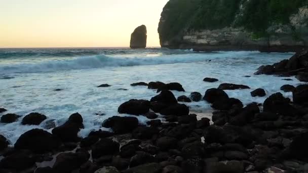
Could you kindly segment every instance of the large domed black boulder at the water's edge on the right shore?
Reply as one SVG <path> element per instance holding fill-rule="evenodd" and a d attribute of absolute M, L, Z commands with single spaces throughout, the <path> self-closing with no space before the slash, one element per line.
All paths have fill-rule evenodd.
<path fill-rule="evenodd" d="M 298 112 L 290 105 L 290 99 L 284 98 L 281 93 L 276 93 L 268 97 L 263 103 L 264 112 L 279 113 L 293 116 Z"/>

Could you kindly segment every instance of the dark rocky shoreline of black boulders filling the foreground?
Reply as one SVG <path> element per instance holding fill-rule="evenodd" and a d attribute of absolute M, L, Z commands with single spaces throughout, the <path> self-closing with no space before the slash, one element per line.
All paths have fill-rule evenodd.
<path fill-rule="evenodd" d="M 274 65 L 262 66 L 256 74 L 296 75 L 305 81 L 308 51 Z M 218 79 L 200 79 L 216 82 Z M 10 144 L 0 134 L 0 172 L 60 173 L 172 173 L 172 172 L 307 172 L 308 171 L 308 84 L 282 86 L 293 92 L 293 102 L 276 93 L 263 104 L 244 107 L 224 90 L 245 90 L 249 86 L 222 83 L 204 95 L 175 98 L 172 91 L 184 92 L 180 83 L 138 82 L 157 90 L 150 100 L 129 100 L 119 106 L 120 114 L 102 123 L 112 131 L 93 131 L 86 138 L 78 133 L 84 128 L 79 113 L 67 121 L 46 129 L 31 129 Z M 266 89 L 265 89 L 266 90 Z M 155 96 L 156 95 L 156 96 Z M 264 89 L 251 92 L 265 97 Z M 185 102 L 205 101 L 215 109 L 212 121 L 189 114 Z M 179 103 L 180 102 L 180 103 Z M 0 108 L 1 112 L 6 112 Z M 136 116 L 151 119 L 140 125 Z M 2 123 L 21 118 L 5 114 Z M 40 124 L 47 117 L 30 113 L 22 124 Z"/>

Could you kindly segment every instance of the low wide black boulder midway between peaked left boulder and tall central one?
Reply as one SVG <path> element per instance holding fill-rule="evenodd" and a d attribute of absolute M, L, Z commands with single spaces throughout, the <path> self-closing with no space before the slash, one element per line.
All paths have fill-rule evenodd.
<path fill-rule="evenodd" d="M 124 134 L 133 131 L 138 126 L 138 119 L 136 117 L 120 117 L 112 116 L 106 119 L 102 126 L 106 128 L 112 128 L 116 134 Z"/>

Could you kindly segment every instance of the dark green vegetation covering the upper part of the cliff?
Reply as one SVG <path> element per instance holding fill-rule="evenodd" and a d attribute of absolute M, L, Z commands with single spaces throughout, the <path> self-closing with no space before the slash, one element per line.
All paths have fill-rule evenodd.
<path fill-rule="evenodd" d="M 159 32 L 171 38 L 186 30 L 244 27 L 256 37 L 289 18 L 308 0 L 170 0 L 162 13 Z"/>

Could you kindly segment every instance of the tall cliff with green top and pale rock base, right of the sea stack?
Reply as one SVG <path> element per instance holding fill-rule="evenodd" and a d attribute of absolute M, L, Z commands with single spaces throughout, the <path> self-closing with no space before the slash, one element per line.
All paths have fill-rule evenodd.
<path fill-rule="evenodd" d="M 171 49 L 295 52 L 308 45 L 307 24 L 306 0 L 170 0 L 158 31 Z"/>

